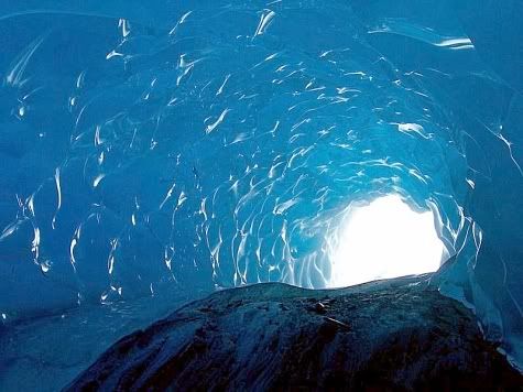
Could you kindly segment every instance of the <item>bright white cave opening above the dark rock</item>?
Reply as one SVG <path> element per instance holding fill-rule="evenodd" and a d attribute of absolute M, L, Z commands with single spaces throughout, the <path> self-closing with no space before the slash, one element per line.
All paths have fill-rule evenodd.
<path fill-rule="evenodd" d="M 330 255 L 331 287 L 434 272 L 442 263 L 433 213 L 416 213 L 399 196 L 353 208 L 342 225 Z"/>

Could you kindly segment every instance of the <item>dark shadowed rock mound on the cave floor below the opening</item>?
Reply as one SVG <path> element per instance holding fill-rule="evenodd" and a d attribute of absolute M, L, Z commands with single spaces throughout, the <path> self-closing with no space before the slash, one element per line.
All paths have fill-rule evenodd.
<path fill-rule="evenodd" d="M 218 292 L 118 341 L 70 390 L 520 390 L 458 302 L 401 279 Z"/>

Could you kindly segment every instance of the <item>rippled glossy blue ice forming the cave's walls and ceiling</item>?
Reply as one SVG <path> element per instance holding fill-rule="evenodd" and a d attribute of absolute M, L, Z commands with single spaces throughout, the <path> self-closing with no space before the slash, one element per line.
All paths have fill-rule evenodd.
<path fill-rule="evenodd" d="M 324 287 L 342 211 L 395 193 L 438 211 L 451 261 L 434 284 L 521 366 L 522 14 L 521 0 L 0 0 L 4 335 L 78 306 Z"/>

